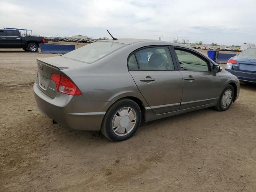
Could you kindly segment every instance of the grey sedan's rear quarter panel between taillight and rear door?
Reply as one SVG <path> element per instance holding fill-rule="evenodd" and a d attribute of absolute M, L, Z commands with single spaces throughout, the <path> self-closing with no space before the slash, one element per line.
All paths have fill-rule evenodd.
<path fill-rule="evenodd" d="M 131 51 L 132 52 L 132 51 Z M 86 102 L 109 102 L 124 97 L 136 97 L 148 104 L 128 72 L 130 52 L 122 48 L 92 64 L 62 70 L 82 92 Z"/>

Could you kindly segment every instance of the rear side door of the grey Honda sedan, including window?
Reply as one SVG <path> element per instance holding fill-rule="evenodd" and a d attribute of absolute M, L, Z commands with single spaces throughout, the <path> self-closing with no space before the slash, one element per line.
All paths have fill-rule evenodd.
<path fill-rule="evenodd" d="M 128 69 L 142 96 L 156 114 L 179 110 L 182 75 L 168 46 L 150 46 L 128 57 Z"/>

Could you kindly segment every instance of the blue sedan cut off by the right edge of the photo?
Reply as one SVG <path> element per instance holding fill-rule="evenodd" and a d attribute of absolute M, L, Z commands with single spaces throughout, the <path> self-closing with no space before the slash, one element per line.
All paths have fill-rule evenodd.
<path fill-rule="evenodd" d="M 256 83 L 256 47 L 248 48 L 230 58 L 225 70 L 237 76 L 241 82 Z"/>

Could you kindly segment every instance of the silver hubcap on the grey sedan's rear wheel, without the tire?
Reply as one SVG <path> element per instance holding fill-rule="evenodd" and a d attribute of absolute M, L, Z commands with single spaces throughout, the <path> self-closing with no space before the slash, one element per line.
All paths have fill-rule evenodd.
<path fill-rule="evenodd" d="M 130 107 L 124 107 L 113 117 L 112 130 L 118 136 L 125 136 L 130 133 L 136 124 L 136 112 Z"/>

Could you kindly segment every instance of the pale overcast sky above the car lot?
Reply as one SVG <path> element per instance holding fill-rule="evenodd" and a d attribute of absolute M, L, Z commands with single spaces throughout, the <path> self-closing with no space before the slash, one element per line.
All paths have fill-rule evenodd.
<path fill-rule="evenodd" d="M 256 43 L 255 11 L 255 0 L 0 0 L 0 28 L 241 45 Z"/>

